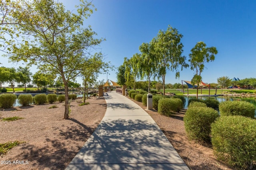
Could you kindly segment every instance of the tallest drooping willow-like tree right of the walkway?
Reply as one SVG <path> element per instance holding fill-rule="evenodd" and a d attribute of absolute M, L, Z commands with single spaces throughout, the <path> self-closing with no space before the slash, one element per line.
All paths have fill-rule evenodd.
<path fill-rule="evenodd" d="M 189 65 L 185 62 L 186 57 L 182 56 L 183 45 L 180 42 L 182 34 L 177 29 L 168 26 L 167 30 L 160 30 L 156 37 L 156 53 L 158 57 L 158 78 L 162 77 L 163 90 L 165 95 L 165 76 L 166 71 L 176 71 L 175 78 L 180 77 L 178 68 L 181 70 Z"/>

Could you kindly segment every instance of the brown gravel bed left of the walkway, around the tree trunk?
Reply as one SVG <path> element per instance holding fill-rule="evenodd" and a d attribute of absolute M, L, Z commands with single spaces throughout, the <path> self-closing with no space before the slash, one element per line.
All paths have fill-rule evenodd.
<path fill-rule="evenodd" d="M 1 111 L 1 117 L 24 117 L 17 121 L 0 121 L 0 143 L 22 141 L 2 155 L 3 170 L 64 169 L 98 126 L 106 112 L 104 98 L 80 99 L 70 104 L 70 119 L 64 118 L 64 103 L 14 107 Z M 56 105 L 57 108 L 48 109 Z M 16 161 L 18 164 L 16 163 Z M 11 164 L 6 164 L 9 161 Z M 22 162 L 23 161 L 23 162 Z"/>

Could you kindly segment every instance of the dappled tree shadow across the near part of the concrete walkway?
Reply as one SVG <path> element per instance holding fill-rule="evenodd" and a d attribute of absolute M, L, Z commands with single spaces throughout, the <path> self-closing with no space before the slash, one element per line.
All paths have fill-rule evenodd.
<path fill-rule="evenodd" d="M 156 169 L 170 169 L 175 163 L 184 164 L 156 123 L 118 119 L 102 121 L 69 168 L 126 164 L 126 169 L 133 169 L 138 164 L 154 164 Z"/>

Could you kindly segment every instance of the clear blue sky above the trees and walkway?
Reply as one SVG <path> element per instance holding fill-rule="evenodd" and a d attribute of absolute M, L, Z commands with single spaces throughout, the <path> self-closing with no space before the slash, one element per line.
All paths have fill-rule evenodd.
<path fill-rule="evenodd" d="M 79 0 L 59 2 L 72 10 Z M 217 82 L 221 76 L 256 77 L 254 0 L 93 0 L 92 3 L 97 11 L 84 26 L 91 25 L 98 37 L 106 38 L 99 48 L 106 61 L 116 67 L 123 63 L 124 57 L 140 53 L 139 46 L 150 42 L 160 29 L 166 30 L 171 25 L 183 35 L 183 55 L 187 60 L 198 41 L 217 48 L 215 61 L 207 63 L 202 72 L 203 82 Z M 31 71 L 35 72 L 34 68 Z M 168 72 L 166 83 L 190 81 L 193 75 L 190 68 L 180 70 L 179 79 L 175 79 L 174 72 Z M 106 80 L 106 73 L 98 77 L 102 79 Z M 116 81 L 116 71 L 110 71 L 108 79 Z"/>

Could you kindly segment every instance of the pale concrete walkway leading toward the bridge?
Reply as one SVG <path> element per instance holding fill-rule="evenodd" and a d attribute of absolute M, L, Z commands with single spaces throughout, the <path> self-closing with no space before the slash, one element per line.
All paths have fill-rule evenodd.
<path fill-rule="evenodd" d="M 114 91 L 97 129 L 66 170 L 189 170 L 155 121 Z"/>

